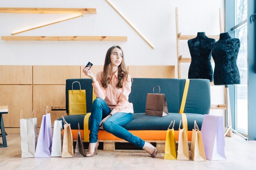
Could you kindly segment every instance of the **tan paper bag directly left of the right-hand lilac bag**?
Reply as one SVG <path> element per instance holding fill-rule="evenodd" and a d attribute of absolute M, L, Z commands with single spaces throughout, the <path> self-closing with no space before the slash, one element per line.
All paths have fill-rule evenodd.
<path fill-rule="evenodd" d="M 206 161 L 202 134 L 196 121 L 194 122 L 194 129 L 192 129 L 190 157 L 193 161 Z"/>

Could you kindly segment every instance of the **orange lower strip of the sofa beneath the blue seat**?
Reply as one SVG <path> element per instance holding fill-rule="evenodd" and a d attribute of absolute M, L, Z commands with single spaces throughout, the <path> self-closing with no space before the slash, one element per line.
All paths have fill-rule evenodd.
<path fill-rule="evenodd" d="M 84 139 L 83 130 L 81 131 L 81 137 Z M 72 136 L 74 140 L 77 140 L 77 132 L 78 130 L 72 130 Z M 164 140 L 166 139 L 166 131 L 129 131 L 135 136 L 138 136 L 139 138 L 143 140 Z M 175 132 L 175 140 L 179 140 L 179 131 Z M 64 133 L 64 131 L 63 131 Z M 90 134 L 90 131 L 89 131 Z M 192 131 L 188 131 L 188 141 L 191 141 L 192 138 Z M 99 140 L 124 140 L 120 139 L 118 137 L 115 137 L 111 133 L 108 133 L 106 131 L 100 130 L 98 133 L 98 139 Z"/>

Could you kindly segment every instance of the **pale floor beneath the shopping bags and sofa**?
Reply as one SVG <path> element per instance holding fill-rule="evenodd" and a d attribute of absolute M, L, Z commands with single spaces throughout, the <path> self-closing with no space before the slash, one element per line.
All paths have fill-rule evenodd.
<path fill-rule="evenodd" d="M 100 151 L 89 158 L 20 158 L 20 135 L 7 135 L 7 148 L 0 148 L 0 170 L 246 170 L 256 169 L 256 141 L 238 135 L 226 137 L 225 161 L 164 160 L 164 153 L 152 158 L 148 153 Z"/>

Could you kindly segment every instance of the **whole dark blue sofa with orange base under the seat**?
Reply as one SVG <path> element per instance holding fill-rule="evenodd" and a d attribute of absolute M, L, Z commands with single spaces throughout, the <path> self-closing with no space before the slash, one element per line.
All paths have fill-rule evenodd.
<path fill-rule="evenodd" d="M 87 112 L 92 110 L 92 80 L 91 79 L 67 79 L 66 80 L 66 111 L 68 114 L 68 90 L 72 89 L 72 83 L 79 81 L 81 89 L 86 91 Z M 132 121 L 123 127 L 147 141 L 165 141 L 166 130 L 171 121 L 175 120 L 175 137 L 178 139 L 178 129 L 182 119 L 180 105 L 186 79 L 175 78 L 133 78 L 129 102 L 133 103 L 134 114 Z M 168 105 L 168 116 L 145 115 L 147 93 L 153 93 L 154 85 L 161 87 L 161 94 L 165 94 Z M 79 84 L 74 83 L 74 89 L 79 89 Z M 155 93 L 158 93 L 155 88 Z M 208 79 L 190 79 L 189 90 L 186 98 L 184 113 L 187 117 L 188 140 L 191 140 L 194 120 L 199 129 L 202 126 L 204 114 L 208 114 L 211 106 L 210 83 Z M 70 123 L 73 139 L 77 139 L 78 123 L 80 124 L 81 137 L 83 139 L 83 122 L 85 115 L 67 115 L 65 120 Z M 58 120 L 62 120 L 59 118 Z M 89 119 L 90 125 L 90 119 Z M 182 126 L 181 126 L 182 127 Z M 89 126 L 90 129 L 90 126 Z M 114 135 L 99 130 L 99 141 L 122 140 Z"/>

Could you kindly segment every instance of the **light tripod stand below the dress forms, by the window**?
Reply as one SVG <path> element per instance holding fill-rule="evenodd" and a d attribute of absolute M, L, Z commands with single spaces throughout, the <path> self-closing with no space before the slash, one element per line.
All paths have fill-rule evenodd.
<path fill-rule="evenodd" d="M 226 90 L 226 96 L 225 96 L 225 100 L 226 100 L 226 104 L 227 104 L 227 124 L 225 126 L 225 130 L 224 130 L 224 136 L 229 136 L 232 137 L 232 132 L 236 133 L 237 135 L 239 135 L 240 137 L 243 137 L 245 140 L 248 140 L 247 137 L 241 135 L 238 131 L 236 131 L 235 129 L 232 128 L 232 121 L 231 121 L 231 109 L 230 109 L 230 100 L 229 100 L 229 87 L 228 85 L 225 85 L 225 90 Z"/>

